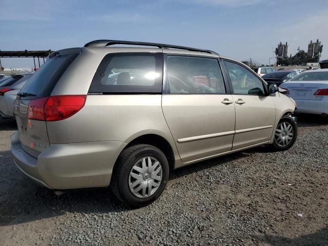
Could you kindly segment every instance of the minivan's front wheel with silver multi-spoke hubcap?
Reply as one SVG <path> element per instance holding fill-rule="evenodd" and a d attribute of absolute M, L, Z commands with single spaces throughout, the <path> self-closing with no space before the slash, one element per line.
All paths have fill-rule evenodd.
<path fill-rule="evenodd" d="M 276 151 L 288 150 L 297 138 L 297 125 L 293 118 L 282 116 L 274 133 L 272 147 Z"/>

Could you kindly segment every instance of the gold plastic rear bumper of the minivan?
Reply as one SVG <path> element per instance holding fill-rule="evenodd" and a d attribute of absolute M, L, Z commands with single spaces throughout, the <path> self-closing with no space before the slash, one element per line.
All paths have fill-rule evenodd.
<path fill-rule="evenodd" d="M 40 185 L 58 190 L 109 186 L 125 146 L 120 141 L 53 144 L 34 158 L 20 147 L 18 132 L 11 136 L 16 166 Z"/>

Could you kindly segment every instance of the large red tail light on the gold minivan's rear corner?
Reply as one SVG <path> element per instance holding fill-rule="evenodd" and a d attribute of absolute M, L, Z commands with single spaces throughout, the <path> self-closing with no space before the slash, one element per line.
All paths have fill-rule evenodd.
<path fill-rule="evenodd" d="M 86 98 L 86 95 L 71 95 L 34 99 L 29 103 L 27 117 L 46 121 L 67 119 L 83 108 Z"/>

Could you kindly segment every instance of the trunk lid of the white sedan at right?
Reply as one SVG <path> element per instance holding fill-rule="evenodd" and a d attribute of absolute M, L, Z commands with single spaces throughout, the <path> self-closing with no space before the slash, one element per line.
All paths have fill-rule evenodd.
<path fill-rule="evenodd" d="M 281 88 L 290 91 L 289 96 L 293 99 L 322 100 L 324 96 L 316 96 L 319 89 L 328 88 L 328 81 L 289 81 L 280 85 Z"/>

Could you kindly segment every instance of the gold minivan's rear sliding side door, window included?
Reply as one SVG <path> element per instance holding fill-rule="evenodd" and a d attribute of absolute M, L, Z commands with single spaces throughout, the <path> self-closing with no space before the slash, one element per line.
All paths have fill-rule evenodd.
<path fill-rule="evenodd" d="M 218 59 L 168 55 L 165 62 L 162 110 L 182 161 L 230 151 L 235 105 Z"/>

